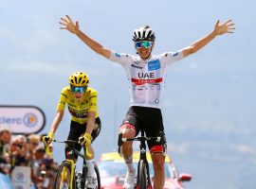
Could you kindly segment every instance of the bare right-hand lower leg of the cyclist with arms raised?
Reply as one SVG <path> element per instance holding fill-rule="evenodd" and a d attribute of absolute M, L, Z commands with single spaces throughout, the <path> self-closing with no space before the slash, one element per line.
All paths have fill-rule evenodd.
<path fill-rule="evenodd" d="M 152 153 L 151 155 L 154 175 L 154 189 L 162 189 L 165 182 L 164 161 L 165 156 L 162 153 Z"/>

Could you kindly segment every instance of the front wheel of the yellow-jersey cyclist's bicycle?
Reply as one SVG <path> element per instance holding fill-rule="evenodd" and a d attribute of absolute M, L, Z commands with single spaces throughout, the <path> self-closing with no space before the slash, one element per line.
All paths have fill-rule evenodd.
<path fill-rule="evenodd" d="M 75 171 L 74 171 L 75 172 Z M 61 163 L 61 165 L 58 168 L 57 175 L 54 181 L 54 189 L 62 189 L 64 188 L 64 184 L 66 184 L 67 188 L 70 188 L 70 177 L 71 176 L 71 164 L 67 161 L 64 161 Z M 73 183 L 72 188 L 76 189 L 76 180 L 75 180 L 75 174 L 73 176 Z"/>

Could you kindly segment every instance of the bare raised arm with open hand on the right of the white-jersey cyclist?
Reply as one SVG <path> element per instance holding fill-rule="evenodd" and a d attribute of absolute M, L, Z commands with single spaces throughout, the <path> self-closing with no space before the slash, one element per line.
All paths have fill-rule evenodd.
<path fill-rule="evenodd" d="M 192 43 L 190 46 L 182 49 L 183 56 L 187 57 L 192 53 L 197 52 L 198 50 L 203 48 L 206 44 L 210 43 L 210 41 L 213 40 L 218 35 L 233 33 L 234 29 L 235 27 L 231 20 L 228 20 L 221 25 L 220 25 L 220 21 L 218 20 L 214 26 L 213 31 L 211 31 L 210 34 L 196 41 L 195 43 Z"/>

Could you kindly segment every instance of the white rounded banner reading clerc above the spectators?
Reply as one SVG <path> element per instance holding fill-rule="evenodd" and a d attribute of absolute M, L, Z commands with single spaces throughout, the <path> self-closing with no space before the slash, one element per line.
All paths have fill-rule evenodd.
<path fill-rule="evenodd" d="M 0 106 L 0 127 L 14 134 L 37 133 L 44 128 L 45 113 L 34 106 Z"/>

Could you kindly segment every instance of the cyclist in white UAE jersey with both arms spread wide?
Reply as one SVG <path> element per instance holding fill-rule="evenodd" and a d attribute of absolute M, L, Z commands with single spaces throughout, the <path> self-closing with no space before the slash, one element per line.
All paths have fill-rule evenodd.
<path fill-rule="evenodd" d="M 61 18 L 60 24 L 62 25 L 61 29 L 67 29 L 77 35 L 83 43 L 96 53 L 106 59 L 118 62 L 124 67 L 130 83 L 131 106 L 120 126 L 119 132 L 126 138 L 135 137 L 139 129 L 145 129 L 147 136 L 157 136 L 159 131 L 164 131 L 161 114 L 161 95 L 164 88 L 166 66 L 197 52 L 218 35 L 233 33 L 235 29 L 231 20 L 223 24 L 217 21 L 214 29 L 207 36 L 192 43 L 190 46 L 176 52 L 152 55 L 155 33 L 150 26 L 139 27 L 133 35 L 138 56 L 132 56 L 116 53 L 103 47 L 100 43 L 83 33 L 80 30 L 78 21 L 74 23 L 68 15 L 66 15 L 66 18 Z M 162 148 L 159 144 L 148 143 L 148 146 L 151 151 L 155 171 L 154 188 L 162 189 L 165 182 L 165 157 L 161 153 Z M 128 168 L 124 188 L 134 189 L 136 171 L 132 160 L 132 142 L 124 143 L 121 146 L 121 150 Z"/>

